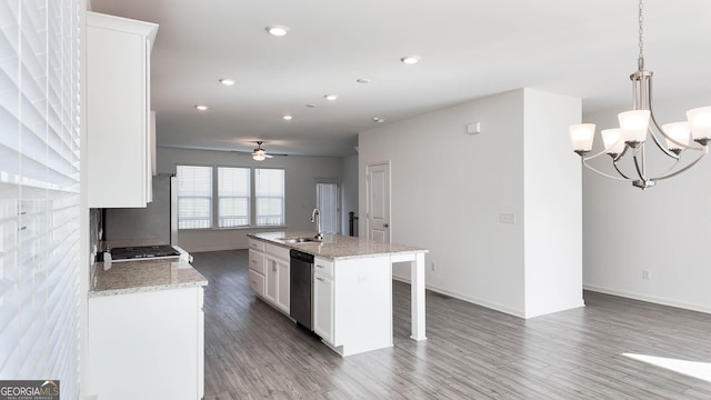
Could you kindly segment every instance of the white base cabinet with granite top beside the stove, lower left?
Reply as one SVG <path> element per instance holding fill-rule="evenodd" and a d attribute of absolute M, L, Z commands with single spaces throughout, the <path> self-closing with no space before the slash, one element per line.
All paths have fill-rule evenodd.
<path fill-rule="evenodd" d="M 89 394 L 102 400 L 202 398 L 208 280 L 187 259 L 92 266 Z"/>

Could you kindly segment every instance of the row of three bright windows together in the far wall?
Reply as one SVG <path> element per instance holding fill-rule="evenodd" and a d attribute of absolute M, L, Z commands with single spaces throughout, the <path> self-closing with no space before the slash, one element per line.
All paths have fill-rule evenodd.
<path fill-rule="evenodd" d="M 250 168 L 177 166 L 178 229 L 283 226 L 284 170 L 253 171 L 254 178 Z"/>

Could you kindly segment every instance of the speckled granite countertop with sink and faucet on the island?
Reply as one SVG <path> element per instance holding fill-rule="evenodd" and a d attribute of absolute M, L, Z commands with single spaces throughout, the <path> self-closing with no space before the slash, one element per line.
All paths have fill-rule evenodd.
<path fill-rule="evenodd" d="M 363 238 L 326 233 L 321 242 L 287 243 L 284 238 L 312 238 L 314 232 L 263 232 L 248 233 L 250 238 L 276 243 L 289 249 L 297 249 L 330 260 L 365 258 L 390 254 L 413 254 L 429 250 L 395 243 L 379 243 Z"/>

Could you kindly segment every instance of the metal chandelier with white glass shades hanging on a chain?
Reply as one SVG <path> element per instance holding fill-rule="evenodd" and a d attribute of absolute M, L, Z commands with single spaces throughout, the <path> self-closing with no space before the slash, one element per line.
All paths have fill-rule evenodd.
<path fill-rule="evenodd" d="M 604 150 L 597 154 L 588 156 L 592 150 L 595 132 L 594 123 L 570 126 L 570 139 L 573 151 L 580 156 L 584 167 L 607 178 L 632 182 L 634 187 L 644 190 L 653 187 L 658 180 L 671 178 L 688 170 L 709 153 L 707 144 L 711 140 L 711 107 L 687 111 L 687 122 L 659 126 L 652 111 L 652 71 L 644 70 L 642 9 L 643 4 L 642 0 L 640 0 L 640 53 L 638 70 L 630 76 L 632 81 L 632 110 L 618 114 L 619 128 L 605 129 L 600 132 Z M 697 144 L 690 144 L 690 138 L 693 138 Z M 649 139 L 667 157 L 670 164 L 667 170 L 654 177 L 649 176 L 647 172 L 645 151 L 647 146 L 650 144 Z M 654 147 L 651 147 L 651 149 L 654 149 Z M 682 152 L 684 151 L 687 153 L 695 153 L 695 158 L 691 157 L 691 159 L 682 161 Z M 588 163 L 588 161 L 604 154 L 612 158 L 612 167 L 619 176 L 602 172 Z M 634 168 L 624 170 L 619 161 L 629 154 L 632 158 L 630 163 L 633 163 Z"/>

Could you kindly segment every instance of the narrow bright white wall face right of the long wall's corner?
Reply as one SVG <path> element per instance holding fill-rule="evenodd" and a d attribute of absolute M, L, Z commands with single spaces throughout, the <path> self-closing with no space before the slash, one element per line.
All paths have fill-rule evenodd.
<path fill-rule="evenodd" d="M 582 183 L 568 127 L 581 101 L 524 91 L 525 316 L 581 307 Z"/>

